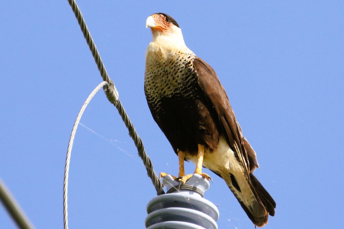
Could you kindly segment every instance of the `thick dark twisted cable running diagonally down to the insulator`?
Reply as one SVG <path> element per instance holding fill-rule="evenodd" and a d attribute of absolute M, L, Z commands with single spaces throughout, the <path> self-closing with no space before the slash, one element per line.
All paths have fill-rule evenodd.
<path fill-rule="evenodd" d="M 84 37 L 86 39 L 86 42 L 89 46 L 89 49 L 92 52 L 92 55 L 96 61 L 96 64 L 98 66 L 98 69 L 100 71 L 101 77 L 104 81 L 108 83 L 108 86 L 104 87 L 104 92 L 106 94 L 106 97 L 110 101 L 110 103 L 114 104 L 116 106 L 119 115 L 122 117 L 123 122 L 125 123 L 126 127 L 129 130 L 129 135 L 133 139 L 134 144 L 138 150 L 138 154 L 140 158 L 143 161 L 144 166 L 146 167 L 147 173 L 149 178 L 152 180 L 152 183 L 155 187 L 155 190 L 157 191 L 157 195 L 164 194 L 162 183 L 155 173 L 153 169 L 153 164 L 150 160 L 150 158 L 147 156 L 146 151 L 144 150 L 143 143 L 141 138 L 138 136 L 133 124 L 131 123 L 126 111 L 124 110 L 124 107 L 122 106 L 121 102 L 118 98 L 118 92 L 115 88 L 114 82 L 109 78 L 107 71 L 105 69 L 105 66 L 103 64 L 103 61 L 100 58 L 100 55 L 98 53 L 98 50 L 96 48 L 96 45 L 94 44 L 94 41 L 92 39 L 92 36 L 87 28 L 87 25 L 85 23 L 85 20 L 83 18 L 83 15 L 80 12 L 80 9 L 78 5 L 76 4 L 75 0 L 68 0 L 69 5 L 71 5 L 72 10 L 75 14 L 76 19 L 78 20 L 78 23 L 80 25 L 81 31 L 84 34 Z"/>

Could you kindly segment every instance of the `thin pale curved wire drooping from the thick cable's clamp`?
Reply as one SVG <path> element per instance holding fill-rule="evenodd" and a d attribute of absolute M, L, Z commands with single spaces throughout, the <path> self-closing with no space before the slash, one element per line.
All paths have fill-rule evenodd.
<path fill-rule="evenodd" d="M 69 173 L 69 161 L 71 160 L 71 153 L 73 148 L 74 137 L 76 133 L 76 129 L 78 128 L 81 116 L 83 115 L 87 105 L 92 100 L 93 96 L 100 90 L 100 88 L 106 86 L 108 83 L 103 81 L 101 82 L 87 97 L 84 105 L 81 107 L 78 116 L 76 117 L 71 137 L 69 138 L 68 149 L 67 149 L 67 157 L 66 157 L 66 165 L 65 165 L 65 175 L 64 175 L 64 184 L 63 184 L 63 217 L 64 217 L 64 228 L 68 228 L 68 211 L 67 211 L 67 200 L 68 200 L 68 173 Z"/>

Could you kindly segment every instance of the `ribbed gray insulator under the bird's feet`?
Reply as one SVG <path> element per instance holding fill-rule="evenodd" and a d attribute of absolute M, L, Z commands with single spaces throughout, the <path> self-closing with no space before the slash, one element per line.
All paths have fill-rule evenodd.
<path fill-rule="evenodd" d="M 217 229 L 217 207 L 204 199 L 209 182 L 194 174 L 178 191 L 179 182 L 170 175 L 163 184 L 168 193 L 153 198 L 147 205 L 145 220 L 148 229 Z"/>

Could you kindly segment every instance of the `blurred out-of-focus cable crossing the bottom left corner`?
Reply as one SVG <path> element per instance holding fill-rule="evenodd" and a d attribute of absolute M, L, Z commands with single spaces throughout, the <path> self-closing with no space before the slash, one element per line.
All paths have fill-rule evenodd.
<path fill-rule="evenodd" d="M 0 179 L 0 199 L 8 213 L 20 229 L 34 229 L 23 210 Z"/>

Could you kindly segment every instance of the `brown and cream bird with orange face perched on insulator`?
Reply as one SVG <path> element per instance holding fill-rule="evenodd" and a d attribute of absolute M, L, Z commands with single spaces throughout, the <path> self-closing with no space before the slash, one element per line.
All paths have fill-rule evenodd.
<path fill-rule="evenodd" d="M 168 14 L 146 20 L 152 41 L 145 58 L 144 93 L 154 121 L 179 158 L 184 184 L 184 161 L 194 173 L 211 180 L 202 167 L 223 178 L 255 226 L 275 215 L 276 203 L 253 175 L 259 167 L 256 152 L 243 136 L 227 93 L 214 69 L 186 47 L 178 23 Z M 166 173 L 160 173 L 161 177 Z"/>

